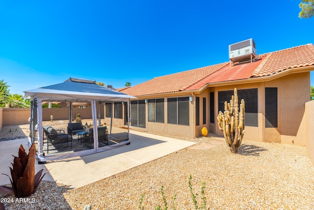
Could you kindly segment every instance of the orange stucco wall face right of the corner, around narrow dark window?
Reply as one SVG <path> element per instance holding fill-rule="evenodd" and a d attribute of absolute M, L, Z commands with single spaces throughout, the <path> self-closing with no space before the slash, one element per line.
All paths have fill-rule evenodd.
<path fill-rule="evenodd" d="M 310 72 L 265 82 L 265 87 L 278 87 L 278 128 L 265 128 L 265 139 L 305 146 L 305 121 L 302 119 L 305 103 L 310 100 Z"/>

